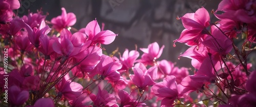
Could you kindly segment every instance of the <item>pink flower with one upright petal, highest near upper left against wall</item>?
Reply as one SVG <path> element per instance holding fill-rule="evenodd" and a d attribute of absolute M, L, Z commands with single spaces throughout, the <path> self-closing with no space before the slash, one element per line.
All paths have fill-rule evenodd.
<path fill-rule="evenodd" d="M 73 26 L 76 23 L 76 15 L 74 13 L 67 14 L 65 8 L 61 8 L 61 10 L 62 14 L 51 20 L 53 28 L 58 32 L 61 32 L 62 29 Z"/>

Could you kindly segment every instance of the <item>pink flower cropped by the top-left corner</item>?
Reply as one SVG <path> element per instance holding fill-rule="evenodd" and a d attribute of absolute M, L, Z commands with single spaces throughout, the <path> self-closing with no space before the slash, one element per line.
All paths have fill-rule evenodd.
<path fill-rule="evenodd" d="M 0 22 L 6 23 L 12 20 L 12 10 L 18 9 L 20 4 L 18 0 L 2 0 L 0 1 L 0 6 Z"/>

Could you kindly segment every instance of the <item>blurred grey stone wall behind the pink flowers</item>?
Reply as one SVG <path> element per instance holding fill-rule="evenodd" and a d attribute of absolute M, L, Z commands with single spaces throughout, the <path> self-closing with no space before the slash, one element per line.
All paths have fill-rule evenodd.
<path fill-rule="evenodd" d="M 173 47 L 173 40 L 179 38 L 184 29 L 181 20 L 186 13 L 193 13 L 201 7 L 205 7 L 211 17 L 211 23 L 217 19 L 211 13 L 216 10 L 221 0 L 22 0 L 22 7 L 18 15 L 27 15 L 42 9 L 48 14 L 47 20 L 61 15 L 61 7 L 76 15 L 77 22 L 73 26 L 81 29 L 89 22 L 97 18 L 99 25 L 105 24 L 104 30 L 111 30 L 118 34 L 110 45 L 102 46 L 109 54 L 119 48 L 122 54 L 124 49 L 135 50 L 147 48 L 152 42 L 158 42 L 159 46 L 165 46 L 161 59 L 177 62 L 179 67 L 191 67 L 188 58 L 178 56 L 188 48 L 177 42 Z"/>

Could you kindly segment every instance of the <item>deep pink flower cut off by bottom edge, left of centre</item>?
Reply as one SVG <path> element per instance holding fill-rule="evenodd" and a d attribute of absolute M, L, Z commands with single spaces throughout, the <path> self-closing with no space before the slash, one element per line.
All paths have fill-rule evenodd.
<path fill-rule="evenodd" d="M 90 98 L 93 101 L 94 106 L 114 106 L 117 101 L 113 94 L 109 94 L 106 90 L 101 90 L 98 88 L 97 96 L 90 94 Z"/>

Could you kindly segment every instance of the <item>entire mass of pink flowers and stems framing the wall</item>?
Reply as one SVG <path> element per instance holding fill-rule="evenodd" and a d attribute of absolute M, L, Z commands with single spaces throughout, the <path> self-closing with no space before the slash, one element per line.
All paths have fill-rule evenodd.
<path fill-rule="evenodd" d="M 256 104 L 256 71 L 247 60 L 256 42 L 255 1 L 223 0 L 213 12 L 216 23 L 203 7 L 177 17 L 185 29 L 174 43 L 190 47 L 180 56 L 190 58 L 194 69 L 160 60 L 164 46 L 157 42 L 140 48 L 141 57 L 137 47 L 103 54 L 101 45 L 117 34 L 100 29 L 96 19 L 73 29 L 76 16 L 65 8 L 49 22 L 41 11 L 14 16 L 18 0 L 0 4 L 0 47 L 9 54 L 9 66 L 0 66 L 1 106 Z"/>

